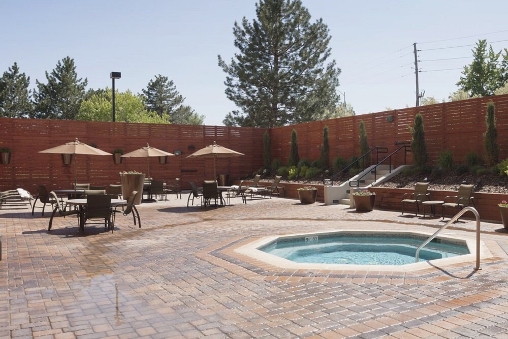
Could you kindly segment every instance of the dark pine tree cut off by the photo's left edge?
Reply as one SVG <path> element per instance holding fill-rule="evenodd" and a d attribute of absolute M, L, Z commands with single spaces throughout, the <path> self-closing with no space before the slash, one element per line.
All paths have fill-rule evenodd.
<path fill-rule="evenodd" d="M 0 117 L 25 118 L 34 109 L 30 101 L 30 77 L 19 73 L 17 63 L 0 78 Z"/>

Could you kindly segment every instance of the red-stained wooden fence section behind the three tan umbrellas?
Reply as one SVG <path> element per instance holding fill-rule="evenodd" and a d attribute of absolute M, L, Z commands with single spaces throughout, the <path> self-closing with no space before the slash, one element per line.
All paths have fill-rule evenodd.
<path fill-rule="evenodd" d="M 147 143 L 171 153 L 180 150 L 181 155 L 168 157 L 167 164 L 150 158 L 150 175 L 169 182 L 179 177 L 186 189 L 189 181 L 213 177 L 213 159 L 186 158 L 190 153 L 213 141 L 242 152 L 243 157 L 216 161 L 217 174 L 239 177 L 259 169 L 263 133 L 264 130 L 255 128 L 0 118 L 0 148 L 12 151 L 10 164 L 0 165 L 0 190 L 21 187 L 35 193 L 38 184 L 50 190 L 70 188 L 74 182 L 74 160 L 72 165 L 63 165 L 60 155 L 38 151 L 75 138 L 109 153 L 117 148 L 129 152 Z M 123 158 L 122 164 L 116 165 L 112 156 L 78 155 L 78 182 L 117 183 L 120 171 L 146 173 L 147 164 L 148 158 Z"/>

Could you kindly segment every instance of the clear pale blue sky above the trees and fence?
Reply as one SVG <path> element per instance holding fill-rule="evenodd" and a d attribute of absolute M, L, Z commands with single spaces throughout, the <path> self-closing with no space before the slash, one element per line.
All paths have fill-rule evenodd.
<path fill-rule="evenodd" d="M 172 79 L 206 125 L 222 125 L 235 109 L 224 94 L 225 74 L 217 54 L 229 60 L 233 23 L 255 16 L 256 1 L 28 1 L 0 2 L 0 72 L 16 61 L 21 72 L 46 82 L 57 61 L 74 58 L 91 88 L 111 86 L 140 93 L 156 74 Z M 332 36 L 332 58 L 357 114 L 415 105 L 412 43 L 418 49 L 472 45 L 480 38 L 508 40 L 508 1 L 334 1 L 303 0 L 312 21 L 323 18 Z M 496 34 L 491 32 L 505 31 Z M 480 35 L 480 36 L 477 36 Z M 464 39 L 454 39 L 477 36 Z M 441 42 L 424 43 L 436 40 Z M 508 41 L 493 44 L 495 50 Z M 419 52 L 422 71 L 462 68 L 471 48 Z M 460 58 L 441 61 L 423 61 Z M 420 90 L 441 100 L 457 89 L 461 70 L 420 73 Z"/>

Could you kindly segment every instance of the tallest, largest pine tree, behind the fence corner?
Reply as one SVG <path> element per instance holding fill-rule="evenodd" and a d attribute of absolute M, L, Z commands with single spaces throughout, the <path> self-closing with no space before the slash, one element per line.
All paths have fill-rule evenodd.
<path fill-rule="evenodd" d="M 322 19 L 310 23 L 300 0 L 260 0 L 257 19 L 235 22 L 235 54 L 226 73 L 226 96 L 241 110 L 227 126 L 271 128 L 320 120 L 338 103 L 340 69 L 330 56 L 331 37 Z"/>

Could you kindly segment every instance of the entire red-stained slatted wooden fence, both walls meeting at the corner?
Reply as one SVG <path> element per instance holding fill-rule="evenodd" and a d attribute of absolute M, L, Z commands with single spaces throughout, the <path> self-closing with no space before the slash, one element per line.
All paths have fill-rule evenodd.
<path fill-rule="evenodd" d="M 361 120 L 365 123 L 370 146 L 384 146 L 393 151 L 399 144 L 410 141 L 407 126 L 412 126 L 415 114 L 421 113 L 430 162 L 435 163 L 441 150 L 450 149 L 455 163 L 460 164 L 469 151 L 483 154 L 486 104 L 489 101 L 496 106 L 499 155 L 500 159 L 505 159 L 508 158 L 508 95 L 272 128 L 269 130 L 272 159 L 287 162 L 293 129 L 298 132 L 300 158 L 318 159 L 325 125 L 330 130 L 330 163 L 337 156 L 346 159 L 358 156 Z M 12 150 L 11 163 L 0 165 L 0 190 L 22 187 L 35 192 L 36 184 L 44 184 L 50 189 L 69 188 L 74 181 L 74 166 L 63 165 L 59 155 L 37 152 L 73 141 L 76 137 L 110 153 L 116 148 L 129 152 L 146 143 L 172 153 L 180 150 L 181 155 L 168 157 L 167 164 L 159 164 L 157 158 L 151 158 L 150 174 L 165 180 L 180 177 L 183 188 L 188 188 L 189 181 L 200 182 L 213 177 L 212 159 L 186 156 L 216 141 L 245 154 L 238 158 L 217 159 L 217 174 L 228 173 L 234 180 L 263 166 L 264 132 L 265 129 L 258 128 L 0 118 L 0 148 Z M 412 161 L 410 155 L 408 161 Z M 402 164 L 403 152 L 393 162 Z M 146 158 L 123 159 L 122 164 L 116 165 L 110 156 L 78 156 L 78 181 L 116 183 L 119 171 L 146 172 L 146 168 Z"/>

